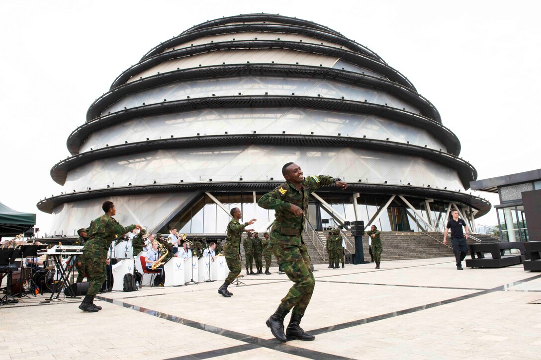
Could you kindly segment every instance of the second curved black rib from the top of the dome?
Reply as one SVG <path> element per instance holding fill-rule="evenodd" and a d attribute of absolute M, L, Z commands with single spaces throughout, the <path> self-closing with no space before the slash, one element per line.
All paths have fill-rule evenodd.
<path fill-rule="evenodd" d="M 140 61 L 143 61 L 149 57 L 152 57 L 157 54 L 161 54 L 164 50 L 173 48 L 173 46 L 192 41 L 194 39 L 202 38 L 205 36 L 211 35 L 223 35 L 223 34 L 239 34 L 240 32 L 272 32 L 275 34 L 299 34 L 323 41 L 328 41 L 336 43 L 342 46 L 346 46 L 352 51 L 357 51 L 360 54 L 371 57 L 379 62 L 385 63 L 385 61 L 375 53 L 362 46 L 347 37 L 336 35 L 333 33 L 317 30 L 317 29 L 308 29 L 302 26 L 292 26 L 292 25 L 283 25 L 283 24 L 233 24 L 233 25 L 223 25 L 215 28 L 205 28 L 190 32 L 184 32 L 179 36 L 170 38 L 167 41 L 160 43 L 160 45 L 155 46 L 154 49 L 150 50 L 145 54 Z"/>

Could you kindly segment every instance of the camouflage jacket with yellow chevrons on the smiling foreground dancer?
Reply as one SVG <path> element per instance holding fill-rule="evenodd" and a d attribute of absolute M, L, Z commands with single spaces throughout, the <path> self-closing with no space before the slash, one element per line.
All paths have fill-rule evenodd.
<path fill-rule="evenodd" d="M 301 190 L 285 182 L 259 199 L 258 205 L 261 208 L 274 210 L 275 220 L 271 230 L 272 245 L 304 244 L 302 230 L 304 230 L 305 219 L 308 215 L 308 197 L 322 185 L 333 184 L 334 181 L 332 176 L 309 176 L 301 183 Z M 291 204 L 299 206 L 304 211 L 304 215 L 294 215 L 289 211 Z"/>

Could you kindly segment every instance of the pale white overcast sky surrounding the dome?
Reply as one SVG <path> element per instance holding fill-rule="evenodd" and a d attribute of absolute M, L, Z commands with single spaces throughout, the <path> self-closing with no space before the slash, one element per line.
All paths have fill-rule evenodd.
<path fill-rule="evenodd" d="M 265 5 L 263 5 L 265 4 Z M 377 52 L 439 110 L 478 179 L 541 168 L 539 2 L 0 2 L 0 202 L 37 210 L 90 104 L 148 50 L 194 24 L 267 12 L 329 26 Z M 497 196 L 484 192 L 494 205 Z M 494 225 L 492 210 L 477 223 Z M 43 232 L 40 235 L 44 235 Z"/>

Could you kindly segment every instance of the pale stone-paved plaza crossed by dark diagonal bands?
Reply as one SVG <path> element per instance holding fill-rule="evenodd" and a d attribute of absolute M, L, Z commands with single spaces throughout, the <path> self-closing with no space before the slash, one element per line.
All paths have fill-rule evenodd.
<path fill-rule="evenodd" d="M 0 360 L 541 358 L 541 275 L 457 271 L 450 257 L 374 266 L 315 266 L 301 323 L 312 342 L 282 344 L 265 325 L 292 284 L 274 268 L 230 285 L 231 298 L 212 282 L 108 292 L 93 314 L 72 299 L 2 306 Z"/>

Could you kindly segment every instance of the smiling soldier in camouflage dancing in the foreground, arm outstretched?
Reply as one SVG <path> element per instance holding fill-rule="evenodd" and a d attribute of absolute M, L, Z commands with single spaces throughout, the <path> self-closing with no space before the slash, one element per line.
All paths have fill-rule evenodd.
<path fill-rule="evenodd" d="M 263 195 L 258 205 L 263 209 L 273 209 L 275 221 L 271 230 L 271 250 L 282 270 L 294 285 L 289 289 L 276 312 L 267 319 L 267 326 L 281 342 L 288 337 L 299 340 L 313 340 L 313 335 L 300 328 L 302 316 L 312 298 L 315 279 L 310 268 L 308 249 L 302 238 L 308 213 L 309 195 L 322 185 L 335 184 L 342 189 L 347 183 L 339 178 L 320 175 L 305 178 L 299 165 L 283 165 L 282 175 L 286 182 Z M 283 331 L 283 318 L 293 309 L 286 334 Z"/>

